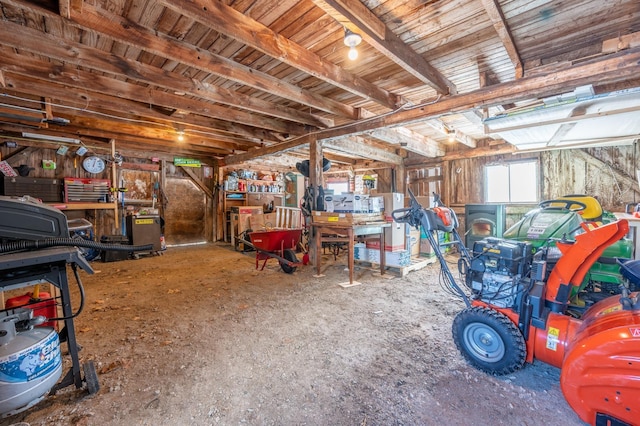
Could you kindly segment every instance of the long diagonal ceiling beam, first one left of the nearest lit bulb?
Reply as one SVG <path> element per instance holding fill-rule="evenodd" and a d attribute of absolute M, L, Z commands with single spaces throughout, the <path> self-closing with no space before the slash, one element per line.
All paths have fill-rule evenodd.
<path fill-rule="evenodd" d="M 317 54 L 282 37 L 260 22 L 254 21 L 222 2 L 191 0 L 176 4 L 171 0 L 158 0 L 158 3 L 364 99 L 377 102 L 390 109 L 401 105 L 400 96 L 327 62 Z"/>

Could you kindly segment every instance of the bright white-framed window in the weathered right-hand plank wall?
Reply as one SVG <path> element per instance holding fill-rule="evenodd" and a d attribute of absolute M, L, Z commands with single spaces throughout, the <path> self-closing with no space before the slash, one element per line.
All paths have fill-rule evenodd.
<path fill-rule="evenodd" d="M 518 161 L 484 168 L 488 203 L 538 202 L 538 162 Z"/>

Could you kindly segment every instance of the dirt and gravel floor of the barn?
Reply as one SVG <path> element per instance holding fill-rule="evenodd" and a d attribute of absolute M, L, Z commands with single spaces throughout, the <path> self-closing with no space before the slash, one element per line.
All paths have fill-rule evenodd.
<path fill-rule="evenodd" d="M 464 304 L 436 264 L 405 278 L 359 268 L 343 288 L 346 259 L 325 256 L 317 278 L 274 260 L 256 271 L 253 256 L 210 244 L 93 262 L 75 326 L 100 391 L 67 387 L 0 425 L 583 424 L 557 369 L 465 363 L 451 337 Z"/>

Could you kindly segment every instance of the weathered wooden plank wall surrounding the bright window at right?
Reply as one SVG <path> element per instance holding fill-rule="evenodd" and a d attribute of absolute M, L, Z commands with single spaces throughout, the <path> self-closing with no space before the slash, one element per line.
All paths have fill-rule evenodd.
<path fill-rule="evenodd" d="M 567 194 L 586 194 L 596 197 L 605 210 L 619 212 L 624 211 L 629 203 L 640 203 L 639 158 L 640 149 L 635 143 L 451 160 L 409 170 L 409 187 L 417 195 L 426 196 L 434 191 L 434 187 L 441 185 L 440 194 L 460 216 L 461 231 L 464 232 L 464 205 L 485 202 L 483 169 L 486 165 L 537 159 L 540 201 Z M 507 227 L 533 207 L 535 205 L 508 205 Z"/>

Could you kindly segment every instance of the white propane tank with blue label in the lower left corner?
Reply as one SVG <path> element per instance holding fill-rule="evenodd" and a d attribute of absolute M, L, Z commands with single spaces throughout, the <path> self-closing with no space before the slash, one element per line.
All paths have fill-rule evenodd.
<path fill-rule="evenodd" d="M 0 322 L 2 418 L 40 402 L 61 375 L 60 339 L 53 327 L 16 332 L 12 321 Z"/>

